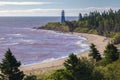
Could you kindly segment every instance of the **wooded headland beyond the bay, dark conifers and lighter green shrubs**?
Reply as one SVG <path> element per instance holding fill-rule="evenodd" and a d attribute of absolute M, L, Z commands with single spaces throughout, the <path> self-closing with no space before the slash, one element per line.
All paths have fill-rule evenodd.
<path fill-rule="evenodd" d="M 101 13 L 94 11 L 84 15 L 80 13 L 78 21 L 48 23 L 39 28 L 103 35 L 110 37 L 114 44 L 118 44 L 120 43 L 120 10 L 110 9 Z"/>

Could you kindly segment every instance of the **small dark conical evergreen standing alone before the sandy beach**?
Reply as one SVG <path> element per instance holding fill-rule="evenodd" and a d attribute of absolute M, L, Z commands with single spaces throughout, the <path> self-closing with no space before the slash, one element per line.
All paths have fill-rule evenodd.
<path fill-rule="evenodd" d="M 91 46 L 90 46 L 89 56 L 92 56 L 92 58 L 95 59 L 96 61 L 101 60 L 101 55 L 100 55 L 99 51 L 95 48 L 94 44 L 91 44 Z"/>

